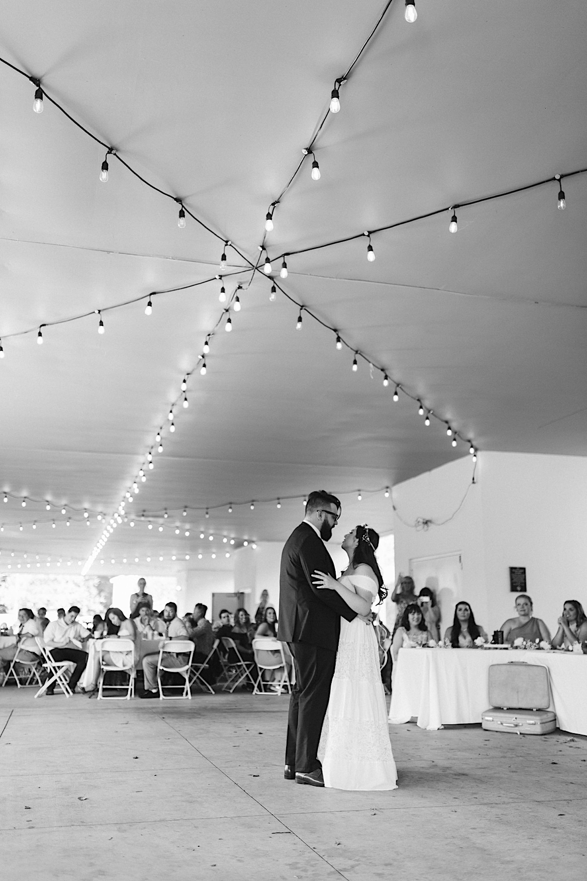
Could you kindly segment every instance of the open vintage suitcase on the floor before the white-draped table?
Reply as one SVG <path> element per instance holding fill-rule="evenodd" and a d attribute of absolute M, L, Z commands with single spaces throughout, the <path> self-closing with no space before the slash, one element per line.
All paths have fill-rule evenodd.
<path fill-rule="evenodd" d="M 548 734 L 556 728 L 550 704 L 548 668 L 529 663 L 499 663 L 489 667 L 489 700 L 481 728 L 514 734 Z"/>

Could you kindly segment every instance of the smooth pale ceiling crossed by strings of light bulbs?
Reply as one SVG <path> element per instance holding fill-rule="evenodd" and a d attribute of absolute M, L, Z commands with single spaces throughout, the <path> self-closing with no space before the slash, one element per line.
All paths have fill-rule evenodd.
<path fill-rule="evenodd" d="M 0 55 L 254 262 L 268 204 L 383 6 L 9 0 Z M 408 26 L 395 0 L 342 86 L 316 144 L 321 179 L 302 168 L 275 210 L 271 255 L 587 165 L 580 0 L 417 8 Z M 42 347 L 36 330 L 7 335 L 211 278 L 222 241 L 191 218 L 178 229 L 178 206 L 114 158 L 100 183 L 105 151 L 48 100 L 33 114 L 33 85 L 4 65 L 0 97 L 0 489 L 79 509 L 67 528 L 58 508 L 0 502 L 0 550 L 51 555 L 52 569 L 92 551 L 101 529 L 93 515 L 77 522 L 83 508 L 110 515 L 132 483 L 221 315 L 219 285 L 161 294 L 149 318 L 144 302 L 106 311 L 104 336 L 97 316 L 48 327 Z M 379 233 L 375 263 L 365 240 L 292 255 L 282 286 L 481 450 L 585 455 L 587 175 L 564 189 L 566 211 L 551 183 L 459 210 L 456 235 L 448 214 Z M 246 260 L 229 248 L 227 271 Z M 172 555 L 228 565 L 223 535 L 282 540 L 317 486 L 349 493 L 339 531 L 369 520 L 385 532 L 390 501 L 358 502 L 358 488 L 466 455 L 406 397 L 393 403 L 378 371 L 353 374 L 352 354 L 308 315 L 297 332 L 297 308 L 270 303 L 268 288 L 257 274 L 233 333 L 216 333 L 208 374 L 190 378 L 189 409 L 128 505 L 136 527 L 121 525 L 91 572 L 111 558 L 120 571 L 123 556 L 163 556 L 165 571 Z M 277 496 L 297 499 L 226 507 Z M 184 505 L 221 507 L 184 518 Z"/>

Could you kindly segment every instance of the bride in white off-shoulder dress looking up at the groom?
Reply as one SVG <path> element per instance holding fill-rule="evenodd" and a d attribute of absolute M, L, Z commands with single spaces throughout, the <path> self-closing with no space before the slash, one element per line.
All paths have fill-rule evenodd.
<path fill-rule="evenodd" d="M 369 615 L 376 595 L 387 595 L 375 557 L 379 537 L 366 524 L 356 526 L 342 542 L 349 566 L 335 581 L 314 573 L 314 585 L 336 590 L 351 609 Z M 363 620 L 341 618 L 327 717 L 320 738 L 324 785 L 336 789 L 395 789 L 397 771 L 387 728 L 385 692 L 379 673 L 378 642 Z"/>

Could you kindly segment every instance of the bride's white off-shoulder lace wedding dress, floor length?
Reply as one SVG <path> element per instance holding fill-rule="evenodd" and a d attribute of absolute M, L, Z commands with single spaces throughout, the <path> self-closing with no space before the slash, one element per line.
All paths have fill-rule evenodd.
<path fill-rule="evenodd" d="M 368 601 L 377 582 L 367 575 L 340 579 Z M 398 774 L 387 727 L 385 691 L 375 630 L 341 618 L 341 638 L 318 751 L 324 785 L 335 789 L 395 789 Z"/>

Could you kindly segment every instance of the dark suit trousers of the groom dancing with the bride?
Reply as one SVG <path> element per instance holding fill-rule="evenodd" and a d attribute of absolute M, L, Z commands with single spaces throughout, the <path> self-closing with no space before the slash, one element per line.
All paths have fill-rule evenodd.
<path fill-rule="evenodd" d="M 321 767 L 318 746 L 330 698 L 336 652 L 307 642 L 290 642 L 296 685 L 290 696 L 285 764 L 308 773 Z"/>

